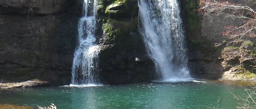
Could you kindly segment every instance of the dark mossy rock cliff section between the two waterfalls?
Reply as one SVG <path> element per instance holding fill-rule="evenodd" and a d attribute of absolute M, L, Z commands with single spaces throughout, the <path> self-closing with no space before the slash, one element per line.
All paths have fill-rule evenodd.
<path fill-rule="evenodd" d="M 99 43 L 102 80 L 111 84 L 150 81 L 153 62 L 147 56 L 138 32 L 138 4 L 132 1 L 102 1 Z"/>

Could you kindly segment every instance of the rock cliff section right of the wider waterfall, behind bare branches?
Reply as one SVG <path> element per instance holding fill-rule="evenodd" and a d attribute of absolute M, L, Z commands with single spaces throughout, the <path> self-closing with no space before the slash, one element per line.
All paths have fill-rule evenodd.
<path fill-rule="evenodd" d="M 225 27 L 241 25 L 246 21 L 226 14 L 204 16 L 194 12 L 194 9 L 198 8 L 198 0 L 183 2 L 184 28 L 187 31 L 189 48 L 188 66 L 192 75 L 195 78 L 224 80 L 248 80 L 253 77 L 254 74 L 247 74 L 247 71 L 254 71 L 252 67 L 249 67 L 249 64 L 246 64 L 248 62 L 242 61 L 241 53 L 244 54 L 243 56 L 254 53 L 255 44 L 253 43 L 255 39 L 237 41 L 222 35 Z M 256 7 L 255 2 L 252 1 L 232 0 L 229 2 L 248 5 L 254 10 Z M 242 50 L 247 52 L 241 52 Z M 244 72 L 245 70 L 247 71 Z M 237 74 L 240 73 L 243 76 L 237 78 L 236 76 L 240 76 Z"/>

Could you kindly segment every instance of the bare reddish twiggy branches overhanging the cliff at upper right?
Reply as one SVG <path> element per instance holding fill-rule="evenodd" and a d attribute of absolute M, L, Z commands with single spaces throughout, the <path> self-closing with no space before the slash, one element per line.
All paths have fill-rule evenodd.
<path fill-rule="evenodd" d="M 256 37 L 256 12 L 248 7 L 230 2 L 219 2 L 216 0 L 200 0 L 200 8 L 196 11 L 208 16 L 221 14 L 230 15 L 232 18 L 241 18 L 247 22 L 239 27 L 225 27 L 223 36 L 229 39 L 242 39 L 243 37 Z"/>

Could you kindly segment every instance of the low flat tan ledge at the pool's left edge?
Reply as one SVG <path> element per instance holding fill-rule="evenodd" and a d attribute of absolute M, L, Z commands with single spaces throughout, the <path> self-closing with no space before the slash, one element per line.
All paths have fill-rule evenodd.
<path fill-rule="evenodd" d="M 8 88 L 15 88 L 15 87 L 35 87 L 35 86 L 44 86 L 48 82 L 41 81 L 39 79 L 28 80 L 24 82 L 9 82 L 9 83 L 0 83 L 0 89 L 8 89 Z"/>

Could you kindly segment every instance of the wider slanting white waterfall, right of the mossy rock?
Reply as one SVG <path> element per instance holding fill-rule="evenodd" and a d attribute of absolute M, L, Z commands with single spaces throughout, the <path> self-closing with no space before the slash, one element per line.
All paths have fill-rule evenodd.
<path fill-rule="evenodd" d="M 177 0 L 138 0 L 138 5 L 140 33 L 160 80 L 190 78 Z"/>

